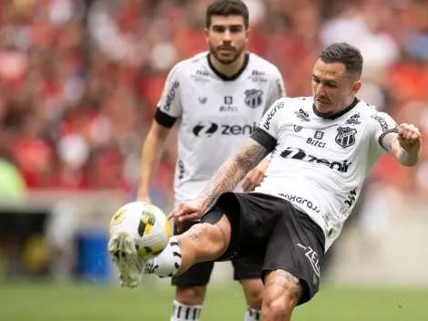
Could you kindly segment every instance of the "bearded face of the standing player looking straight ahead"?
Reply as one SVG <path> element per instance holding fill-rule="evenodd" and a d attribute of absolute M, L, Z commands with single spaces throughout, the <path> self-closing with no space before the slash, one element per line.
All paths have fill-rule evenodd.
<path fill-rule="evenodd" d="M 209 52 L 224 65 L 244 53 L 248 35 L 242 16 L 211 16 L 211 26 L 205 29 Z"/>

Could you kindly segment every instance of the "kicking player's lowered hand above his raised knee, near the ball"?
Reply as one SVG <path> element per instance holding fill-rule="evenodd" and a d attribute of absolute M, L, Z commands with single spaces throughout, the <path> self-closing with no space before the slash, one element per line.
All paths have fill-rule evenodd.
<path fill-rule="evenodd" d="M 180 202 L 177 208 L 168 215 L 168 220 L 174 218 L 178 231 L 184 221 L 198 220 L 207 210 L 209 202 L 205 198 L 197 198 L 193 201 Z"/>

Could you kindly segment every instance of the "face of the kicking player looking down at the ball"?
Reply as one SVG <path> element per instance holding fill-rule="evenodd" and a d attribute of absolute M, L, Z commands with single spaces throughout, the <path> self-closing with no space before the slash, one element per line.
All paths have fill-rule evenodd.
<path fill-rule="evenodd" d="M 355 81 L 345 74 L 341 63 L 325 63 L 318 59 L 312 71 L 312 94 L 315 108 L 325 115 L 334 114 L 352 104 L 361 88 L 361 81 Z"/>

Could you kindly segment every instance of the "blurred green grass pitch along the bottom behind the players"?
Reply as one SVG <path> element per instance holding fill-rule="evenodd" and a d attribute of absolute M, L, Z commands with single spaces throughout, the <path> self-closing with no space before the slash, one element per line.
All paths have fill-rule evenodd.
<path fill-rule="evenodd" d="M 147 284 L 137 289 L 112 285 L 0 284 L 2 321 L 148 320 L 168 321 L 173 288 Z M 428 320 L 428 289 L 351 289 L 324 286 L 294 321 Z M 243 319 L 239 285 L 210 285 L 202 321 Z"/>

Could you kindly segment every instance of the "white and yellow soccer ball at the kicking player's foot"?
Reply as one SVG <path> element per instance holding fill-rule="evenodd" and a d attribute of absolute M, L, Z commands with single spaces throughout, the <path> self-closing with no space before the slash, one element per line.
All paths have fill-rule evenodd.
<path fill-rule="evenodd" d="M 126 231 L 134 239 L 138 254 L 155 257 L 168 245 L 171 231 L 164 212 L 147 202 L 129 202 L 113 215 L 110 237 Z"/>

